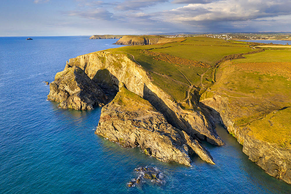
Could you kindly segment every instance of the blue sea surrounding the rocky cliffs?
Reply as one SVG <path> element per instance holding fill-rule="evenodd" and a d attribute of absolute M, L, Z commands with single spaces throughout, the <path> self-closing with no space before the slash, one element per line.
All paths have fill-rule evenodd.
<path fill-rule="evenodd" d="M 0 193 L 291 193 L 221 126 L 226 145 L 204 143 L 216 165 L 194 156 L 191 167 L 95 135 L 101 109 L 59 109 L 46 100 L 42 81 L 52 82 L 69 58 L 120 45 L 88 36 L 31 38 L 0 37 Z M 165 183 L 127 187 L 139 166 L 160 169 Z"/>

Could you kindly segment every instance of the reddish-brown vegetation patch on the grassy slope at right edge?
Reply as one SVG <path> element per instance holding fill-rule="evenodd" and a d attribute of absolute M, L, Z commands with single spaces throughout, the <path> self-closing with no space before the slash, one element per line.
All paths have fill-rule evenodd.
<path fill-rule="evenodd" d="M 279 75 L 291 81 L 291 62 L 260 62 L 260 63 L 238 63 L 235 64 L 238 70 L 246 72 L 259 72 L 258 74 Z"/>

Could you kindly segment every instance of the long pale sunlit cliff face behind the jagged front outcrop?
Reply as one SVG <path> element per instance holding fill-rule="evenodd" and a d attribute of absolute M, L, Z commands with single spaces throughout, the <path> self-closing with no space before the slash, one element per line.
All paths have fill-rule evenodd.
<path fill-rule="evenodd" d="M 125 54 L 95 52 L 70 59 L 69 64 L 80 67 L 92 80 L 96 77 L 100 78 L 99 72 L 106 69 L 110 77 L 103 77 L 102 80 L 112 80 L 111 84 L 115 83 L 115 85 L 123 82 L 129 91 L 148 100 L 162 112 L 174 127 L 186 131 L 194 139 L 198 137 L 212 144 L 224 144 L 202 112 L 183 110 L 171 100 L 171 96 L 151 82 L 151 77 L 146 70 Z"/>

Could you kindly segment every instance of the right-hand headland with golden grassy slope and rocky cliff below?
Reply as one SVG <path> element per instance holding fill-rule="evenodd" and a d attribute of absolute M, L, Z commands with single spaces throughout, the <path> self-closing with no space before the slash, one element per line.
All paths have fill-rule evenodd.
<path fill-rule="evenodd" d="M 268 52 L 272 51 L 254 55 Z M 291 184 L 290 73 L 283 70 L 285 63 L 249 61 L 221 63 L 216 82 L 200 98 L 200 107 L 210 121 L 224 124 L 251 161 Z"/>

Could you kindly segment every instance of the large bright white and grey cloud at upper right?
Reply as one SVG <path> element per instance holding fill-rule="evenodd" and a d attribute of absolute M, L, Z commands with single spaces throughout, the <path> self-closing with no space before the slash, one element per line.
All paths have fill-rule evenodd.
<path fill-rule="evenodd" d="M 162 13 L 171 22 L 247 21 L 291 14 L 291 3 L 283 0 L 223 0 L 207 4 L 189 4 Z"/>

